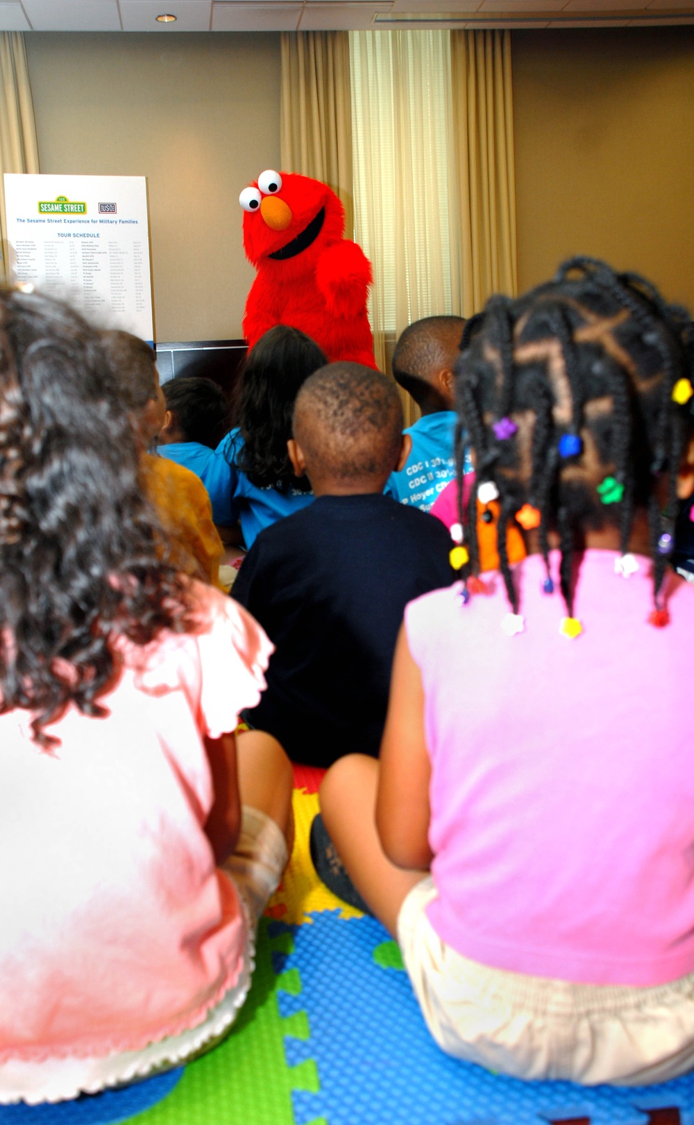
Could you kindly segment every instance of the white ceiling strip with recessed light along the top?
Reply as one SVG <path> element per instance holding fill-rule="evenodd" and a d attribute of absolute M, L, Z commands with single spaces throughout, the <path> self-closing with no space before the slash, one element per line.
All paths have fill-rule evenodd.
<path fill-rule="evenodd" d="M 161 14 L 176 17 L 159 24 Z M 694 24 L 694 0 L 0 0 L 1 32 L 293 32 Z"/>

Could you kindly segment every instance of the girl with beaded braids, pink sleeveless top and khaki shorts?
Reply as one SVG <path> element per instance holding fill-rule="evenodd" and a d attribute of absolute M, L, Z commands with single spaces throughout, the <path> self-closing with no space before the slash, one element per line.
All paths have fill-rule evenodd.
<path fill-rule="evenodd" d="M 321 788 L 436 1041 L 519 1078 L 694 1066 L 694 590 L 668 567 L 694 489 L 693 333 L 593 259 L 468 323 L 477 488 L 499 492 L 500 536 L 536 508 L 531 554 L 502 556 L 492 596 L 458 583 L 408 606 L 381 760 L 346 757 Z"/>

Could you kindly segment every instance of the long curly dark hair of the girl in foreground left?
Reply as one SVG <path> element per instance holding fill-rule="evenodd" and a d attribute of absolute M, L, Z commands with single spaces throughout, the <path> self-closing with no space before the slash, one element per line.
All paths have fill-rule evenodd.
<path fill-rule="evenodd" d="M 44 748 L 70 703 L 108 713 L 116 638 L 190 629 L 165 550 L 99 333 L 66 305 L 0 290 L 0 713 L 33 712 Z"/>

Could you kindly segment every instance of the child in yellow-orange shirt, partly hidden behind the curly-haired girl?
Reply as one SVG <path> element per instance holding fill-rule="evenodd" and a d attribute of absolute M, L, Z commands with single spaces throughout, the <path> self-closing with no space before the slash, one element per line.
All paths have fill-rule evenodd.
<path fill-rule="evenodd" d="M 102 345 L 139 434 L 143 488 L 167 532 L 172 564 L 217 586 L 223 547 L 204 486 L 183 465 L 147 452 L 166 411 L 154 352 L 129 332 L 103 332 Z"/>

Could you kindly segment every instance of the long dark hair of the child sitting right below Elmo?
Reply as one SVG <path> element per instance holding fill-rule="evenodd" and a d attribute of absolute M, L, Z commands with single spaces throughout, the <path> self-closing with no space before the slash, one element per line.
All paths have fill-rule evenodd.
<path fill-rule="evenodd" d="M 307 478 L 294 476 L 286 443 L 299 388 L 327 362 L 310 336 L 286 324 L 276 324 L 248 352 L 239 397 L 244 446 L 234 464 L 252 484 L 310 492 Z"/>

